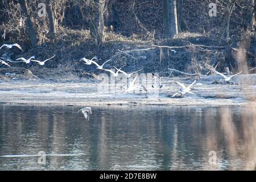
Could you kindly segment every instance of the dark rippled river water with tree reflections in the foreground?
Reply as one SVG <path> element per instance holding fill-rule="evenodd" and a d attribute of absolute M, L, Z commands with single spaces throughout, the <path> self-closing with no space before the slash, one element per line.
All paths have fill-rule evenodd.
<path fill-rule="evenodd" d="M 93 107 L 89 122 L 79 109 L 1 105 L 0 169 L 255 169 L 256 107 Z"/>

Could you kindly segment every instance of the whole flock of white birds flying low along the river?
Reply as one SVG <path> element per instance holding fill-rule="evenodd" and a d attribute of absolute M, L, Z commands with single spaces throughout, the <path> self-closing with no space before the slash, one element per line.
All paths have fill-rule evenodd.
<path fill-rule="evenodd" d="M 3 45 L 0 47 L 0 49 L 2 49 L 2 48 L 10 49 L 10 48 L 13 48 L 13 47 L 17 47 L 17 48 L 19 48 L 21 51 L 23 51 L 22 47 L 21 47 L 19 44 L 17 44 L 17 43 L 15 43 L 15 44 L 3 44 Z M 0 63 L 3 64 L 3 65 L 6 65 L 7 67 L 11 67 L 11 66 L 9 65 L 9 63 L 25 63 L 25 64 L 29 64 L 29 63 L 31 63 L 31 61 L 32 61 L 32 62 L 35 62 L 35 63 L 38 63 L 39 65 L 44 65 L 44 64 L 46 63 L 46 61 L 53 59 L 53 57 L 55 57 L 55 55 L 53 55 L 52 57 L 50 57 L 49 59 L 46 59 L 46 60 L 44 60 L 44 61 L 35 60 L 35 59 L 36 59 L 35 56 L 31 56 L 31 57 L 29 57 L 28 59 L 25 59 L 24 57 L 19 57 L 19 58 L 16 59 L 15 61 L 11 61 L 11 60 L 1 60 L 1 59 L 0 59 Z M 92 64 L 94 64 L 94 65 L 96 65 L 96 68 L 97 68 L 97 69 L 100 69 L 100 70 L 102 70 L 102 71 L 109 72 L 109 73 L 112 74 L 114 77 L 117 77 L 119 73 L 122 73 L 123 75 L 125 75 L 126 78 L 130 78 L 131 76 L 133 76 L 134 73 L 137 73 L 137 72 L 139 72 L 139 71 L 142 71 L 142 69 L 143 69 L 143 68 L 141 68 L 141 69 L 139 69 L 138 71 L 131 72 L 131 73 L 126 73 L 125 71 L 122 71 L 122 70 L 121 70 L 122 67 L 119 68 L 119 69 L 116 68 L 116 67 L 114 67 L 113 70 L 116 70 L 116 71 L 113 71 L 113 70 L 111 70 L 111 69 L 105 69 L 105 68 L 103 68 L 104 65 L 105 65 L 106 63 L 108 63 L 109 61 L 111 61 L 111 60 L 112 60 L 112 59 L 109 59 L 109 60 L 105 61 L 102 65 L 100 65 L 100 64 L 97 63 L 97 62 L 98 62 L 97 57 L 93 57 L 92 59 L 86 59 L 85 57 L 82 57 L 82 58 L 79 60 L 79 62 L 80 62 L 80 61 L 84 61 L 86 65 L 92 65 Z M 210 71 L 212 71 L 212 72 L 214 72 L 214 73 L 216 73 L 216 74 L 222 76 L 226 82 L 229 82 L 234 76 L 239 75 L 240 73 L 242 73 L 242 72 L 239 72 L 239 73 L 236 73 L 235 75 L 225 76 L 224 74 L 222 74 L 222 73 L 220 73 L 220 72 L 217 72 L 216 69 L 214 69 L 214 68 L 209 68 L 209 69 L 210 69 Z M 153 80 L 156 81 L 157 78 L 159 79 L 158 85 L 152 85 L 152 88 L 158 88 L 158 89 L 159 89 L 159 88 L 162 88 L 164 85 L 161 83 L 160 77 L 155 76 L 154 73 L 152 73 L 152 76 L 153 76 L 153 79 L 151 80 L 151 82 L 152 82 Z M 126 84 L 126 85 L 123 85 L 123 88 L 126 89 L 126 92 L 133 92 L 135 89 L 144 90 L 144 91 L 146 92 L 146 97 L 147 97 L 147 93 L 148 93 L 148 92 L 147 92 L 146 87 L 145 87 L 144 85 L 142 85 L 142 84 L 141 84 L 140 86 L 135 84 L 135 81 L 137 80 L 137 77 L 138 77 L 138 76 L 135 76 L 134 79 L 133 79 L 133 81 L 128 82 L 128 84 Z M 188 86 L 185 86 L 183 83 L 181 83 L 181 82 L 179 82 L 179 81 L 175 81 L 175 82 L 176 82 L 178 85 L 180 85 L 181 88 L 180 88 L 179 91 L 178 91 L 177 93 L 175 93 L 171 98 L 176 97 L 178 94 L 180 94 L 181 96 L 183 96 L 183 95 L 186 94 L 186 93 L 195 94 L 195 93 L 191 92 L 191 87 L 196 83 L 196 80 L 193 81 L 192 84 L 190 84 L 190 85 L 188 85 Z M 82 109 L 79 110 L 79 113 L 83 113 L 84 116 L 85 116 L 85 119 L 87 119 L 87 120 L 89 121 L 89 115 L 92 114 L 92 109 L 91 109 L 90 107 L 84 107 L 84 108 L 82 108 Z"/>

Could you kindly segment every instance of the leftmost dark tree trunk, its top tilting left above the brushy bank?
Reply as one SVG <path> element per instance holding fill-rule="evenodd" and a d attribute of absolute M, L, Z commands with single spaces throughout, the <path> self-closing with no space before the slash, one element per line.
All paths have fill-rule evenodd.
<path fill-rule="evenodd" d="M 36 44 L 38 44 L 38 38 L 36 36 L 35 28 L 32 25 L 30 15 L 27 12 L 27 2 L 26 0 L 20 0 L 19 4 L 20 4 L 20 8 L 22 10 L 23 15 L 27 17 L 26 26 L 28 28 L 28 36 L 30 38 L 30 42 L 32 46 L 35 46 Z"/>

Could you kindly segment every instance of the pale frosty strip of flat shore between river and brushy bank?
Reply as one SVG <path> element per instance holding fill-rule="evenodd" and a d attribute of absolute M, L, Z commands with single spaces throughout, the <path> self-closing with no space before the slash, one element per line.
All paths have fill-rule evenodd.
<path fill-rule="evenodd" d="M 255 104 L 256 75 L 239 75 L 233 83 L 218 82 L 217 75 L 203 76 L 193 85 L 193 94 L 185 94 L 180 98 L 171 98 L 180 86 L 175 80 L 189 85 L 195 78 L 175 77 L 162 78 L 165 85 L 156 96 L 152 89 L 145 93 L 99 93 L 99 81 L 63 81 L 51 80 L 0 80 L 1 104 L 29 105 L 245 105 Z M 153 90 L 154 91 L 154 90 Z"/>

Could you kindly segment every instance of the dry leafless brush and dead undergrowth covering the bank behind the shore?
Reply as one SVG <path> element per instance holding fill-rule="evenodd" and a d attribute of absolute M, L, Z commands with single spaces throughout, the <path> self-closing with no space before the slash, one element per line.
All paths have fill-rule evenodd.
<path fill-rule="evenodd" d="M 36 6 L 38 2 L 27 2 L 28 6 L 32 7 L 28 14 L 38 33 L 38 46 L 31 47 L 29 44 L 26 26 L 20 20 L 24 17 L 20 15 L 19 3 L 8 0 L 2 1 L 0 6 L 0 34 L 5 34 L 5 39 L 2 38 L 0 43 L 18 41 L 25 48 L 24 54 L 18 51 L 5 52 L 11 60 L 19 56 L 32 55 L 44 59 L 46 55 L 56 54 L 55 60 L 46 64 L 46 68 L 51 69 L 51 72 L 46 74 L 52 78 L 61 73 L 70 73 L 76 77 L 97 75 L 98 70 L 77 63 L 80 57 L 96 55 L 102 62 L 113 57 L 109 67 L 119 65 L 125 67 L 126 71 L 143 67 L 144 72 L 177 76 L 184 73 L 208 75 L 209 71 L 205 70 L 205 64 L 212 65 L 219 71 L 226 71 L 228 68 L 230 72 L 237 72 L 242 53 L 242 56 L 246 56 L 248 72 L 255 72 L 255 32 L 250 28 L 243 30 L 243 25 L 238 23 L 241 22 L 241 17 L 247 17 L 246 11 L 250 9 L 247 1 L 234 1 L 233 10 L 229 14 L 229 5 L 226 6 L 224 1 L 216 1 L 218 16 L 209 18 L 209 1 L 184 0 L 183 16 L 188 30 L 175 35 L 174 39 L 163 37 L 162 2 L 133 1 L 133 4 L 129 4 L 132 5 L 129 10 L 126 7 L 129 7 L 127 5 L 131 1 L 104 1 L 104 43 L 101 43 L 100 47 L 95 46 L 90 28 L 90 21 L 94 16 L 88 16 L 92 0 L 53 2 L 56 26 L 54 39 L 49 36 L 48 16 L 39 18 L 36 13 L 39 9 Z M 229 20 L 223 21 L 227 15 Z M 127 35 L 128 30 L 130 35 Z M 3 53 L 0 50 L 0 56 Z M 37 65 L 11 66 L 22 69 L 23 72 L 24 69 L 30 69 L 35 75 L 44 70 Z M 6 73 L 5 71 L 14 72 L 15 69 L 5 68 L 1 72 Z M 43 77 L 43 74 L 36 76 Z"/>

